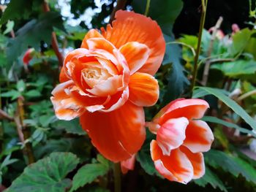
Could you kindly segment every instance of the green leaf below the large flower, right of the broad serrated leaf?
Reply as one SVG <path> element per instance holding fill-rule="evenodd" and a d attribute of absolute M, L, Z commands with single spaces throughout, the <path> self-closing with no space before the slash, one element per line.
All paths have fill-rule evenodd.
<path fill-rule="evenodd" d="M 102 161 L 102 156 L 100 158 L 98 157 L 98 159 Z M 108 162 L 108 160 L 99 162 L 99 164 L 86 164 L 85 166 L 82 166 L 73 177 L 70 192 L 75 191 L 83 185 L 93 182 L 99 176 L 107 174 L 110 170 L 110 166 L 109 164 L 106 164 L 106 162 Z"/>

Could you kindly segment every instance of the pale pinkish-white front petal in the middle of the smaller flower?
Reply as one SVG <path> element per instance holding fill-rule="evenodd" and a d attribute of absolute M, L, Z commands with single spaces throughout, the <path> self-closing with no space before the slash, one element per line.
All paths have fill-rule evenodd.
<path fill-rule="evenodd" d="M 186 128 L 189 124 L 187 118 L 167 120 L 157 131 L 157 144 L 163 155 L 170 155 L 170 151 L 178 148 L 186 138 Z"/>

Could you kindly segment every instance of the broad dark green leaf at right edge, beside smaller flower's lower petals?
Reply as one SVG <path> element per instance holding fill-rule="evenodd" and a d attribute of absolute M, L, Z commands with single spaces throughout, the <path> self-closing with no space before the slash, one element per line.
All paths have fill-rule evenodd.
<path fill-rule="evenodd" d="M 221 168 L 226 172 L 230 172 L 235 177 L 238 177 L 238 175 L 241 174 L 246 180 L 253 183 L 256 182 L 256 170 L 241 158 L 219 150 L 210 150 L 205 153 L 204 156 L 207 164 L 215 169 Z"/>

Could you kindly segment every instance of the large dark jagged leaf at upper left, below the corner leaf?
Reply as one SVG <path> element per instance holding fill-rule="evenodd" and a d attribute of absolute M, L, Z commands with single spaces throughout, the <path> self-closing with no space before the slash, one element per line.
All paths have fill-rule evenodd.
<path fill-rule="evenodd" d="M 58 12 L 46 12 L 38 20 L 30 20 L 17 31 L 15 38 L 7 45 L 7 58 L 10 62 L 26 51 L 29 46 L 39 48 L 40 42 L 50 43 L 53 27 L 64 30 L 61 15 Z"/>

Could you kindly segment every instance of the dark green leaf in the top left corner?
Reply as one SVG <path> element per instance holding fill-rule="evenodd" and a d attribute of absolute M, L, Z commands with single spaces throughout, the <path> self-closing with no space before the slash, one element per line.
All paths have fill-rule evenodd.
<path fill-rule="evenodd" d="M 8 20 L 20 18 L 29 18 L 31 9 L 34 5 L 33 1 L 42 4 L 43 0 L 12 0 L 7 4 L 4 14 L 1 16 L 0 25 L 7 23 Z"/>

